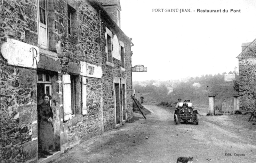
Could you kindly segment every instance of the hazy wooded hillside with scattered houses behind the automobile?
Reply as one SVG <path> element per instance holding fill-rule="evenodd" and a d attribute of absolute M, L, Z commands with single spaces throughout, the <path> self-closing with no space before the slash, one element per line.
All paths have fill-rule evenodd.
<path fill-rule="evenodd" d="M 223 74 L 205 75 L 186 81 L 143 81 L 133 82 L 137 99 L 144 96 L 145 103 L 175 103 L 178 98 L 191 100 L 195 106 L 208 106 L 208 95 L 225 99 L 237 95 L 233 81 L 225 81 Z M 238 76 L 236 76 L 238 78 Z"/>

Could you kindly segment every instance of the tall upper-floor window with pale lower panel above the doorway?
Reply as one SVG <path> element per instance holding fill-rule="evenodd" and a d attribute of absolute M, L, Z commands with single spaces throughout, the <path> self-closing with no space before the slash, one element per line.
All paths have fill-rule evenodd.
<path fill-rule="evenodd" d="M 47 1 L 38 0 L 38 41 L 39 46 L 48 49 Z"/>

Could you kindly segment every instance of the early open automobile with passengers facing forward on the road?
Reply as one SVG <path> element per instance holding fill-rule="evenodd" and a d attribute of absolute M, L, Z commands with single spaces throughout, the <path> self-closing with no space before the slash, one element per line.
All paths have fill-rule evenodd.
<path fill-rule="evenodd" d="M 188 102 L 188 107 L 183 107 L 183 102 L 180 102 L 178 108 L 174 112 L 174 123 L 180 124 L 180 122 L 193 122 L 198 124 L 199 116 L 197 110 L 194 110 L 194 106 L 191 102 Z"/>

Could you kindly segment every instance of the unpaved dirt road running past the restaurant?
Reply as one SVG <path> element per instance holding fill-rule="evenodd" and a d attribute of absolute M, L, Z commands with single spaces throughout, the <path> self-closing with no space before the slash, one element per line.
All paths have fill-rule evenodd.
<path fill-rule="evenodd" d="M 104 132 L 60 155 L 53 162 L 256 162 L 256 131 L 242 115 L 199 116 L 199 124 L 173 122 L 173 109 L 144 105 L 145 120 Z M 199 112 L 200 113 L 200 112 Z M 242 120 L 245 119 L 245 120 Z"/>

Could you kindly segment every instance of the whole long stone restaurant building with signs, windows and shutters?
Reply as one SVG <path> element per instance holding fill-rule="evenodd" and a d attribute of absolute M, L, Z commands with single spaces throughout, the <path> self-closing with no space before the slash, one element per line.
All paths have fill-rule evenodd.
<path fill-rule="evenodd" d="M 112 10 L 119 11 L 120 23 L 116 4 Z M 132 117 L 133 44 L 102 5 L 1 2 L 0 162 L 38 161 L 37 106 L 45 93 L 52 96 L 52 152 L 64 152 Z"/>

